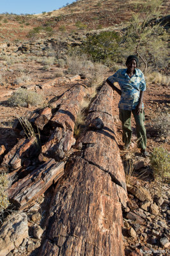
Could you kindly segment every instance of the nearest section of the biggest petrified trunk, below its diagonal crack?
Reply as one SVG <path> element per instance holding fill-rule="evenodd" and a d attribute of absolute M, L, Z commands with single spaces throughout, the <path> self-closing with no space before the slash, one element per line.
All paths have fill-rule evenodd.
<path fill-rule="evenodd" d="M 124 255 L 116 185 L 84 159 L 57 185 L 50 216 L 39 255 Z"/>

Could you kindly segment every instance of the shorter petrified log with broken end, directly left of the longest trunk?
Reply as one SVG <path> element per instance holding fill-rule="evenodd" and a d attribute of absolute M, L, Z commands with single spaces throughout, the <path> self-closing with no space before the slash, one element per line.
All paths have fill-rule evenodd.
<path fill-rule="evenodd" d="M 53 157 L 56 161 L 60 161 L 60 159 L 64 159 L 66 152 L 76 142 L 73 138 L 74 124 L 81 102 L 85 97 L 85 91 L 83 86 L 76 85 L 67 91 L 67 98 L 66 95 L 62 96 L 64 99 L 50 120 L 54 132 L 42 147 L 41 154 L 43 156 Z M 39 159 L 42 159 L 42 155 Z"/>

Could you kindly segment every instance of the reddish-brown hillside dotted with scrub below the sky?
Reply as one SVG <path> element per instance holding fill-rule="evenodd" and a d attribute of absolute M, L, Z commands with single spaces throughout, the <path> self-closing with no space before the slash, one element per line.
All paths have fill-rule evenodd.
<path fill-rule="evenodd" d="M 144 1 L 145 2 L 145 1 Z M 162 15 L 169 13 L 169 1 L 164 0 Z M 0 42 L 17 42 L 78 31 L 112 28 L 121 29 L 136 13 L 141 1 L 80 0 L 48 13 L 37 15 L 0 15 Z M 32 33 L 36 29 L 38 34 Z M 33 31 L 34 32 L 34 31 Z"/>

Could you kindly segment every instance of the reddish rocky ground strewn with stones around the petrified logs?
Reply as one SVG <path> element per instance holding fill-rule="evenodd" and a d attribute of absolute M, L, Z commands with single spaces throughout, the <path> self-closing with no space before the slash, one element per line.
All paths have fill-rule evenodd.
<path fill-rule="evenodd" d="M 26 86 L 26 88 L 33 88 L 36 92 L 42 93 L 46 98 L 46 102 L 48 102 L 56 95 L 66 92 L 73 84 L 84 83 L 80 77 L 71 78 L 71 74 L 67 74 L 65 78 L 63 76 L 56 77 L 56 72 L 63 72 L 67 67 L 59 67 L 58 64 L 52 64 L 48 70 L 43 70 L 44 65 L 38 63 L 36 60 L 32 61 L 29 55 L 24 55 L 22 67 L 19 66 L 20 63 L 10 63 L 10 65 L 6 63 L 4 65 L 4 60 L 0 60 L 0 65 L 1 71 L 5 74 L 0 88 L 0 138 L 1 145 L 4 145 L 8 150 L 15 145 L 17 138 L 19 138 L 19 134 L 13 134 L 11 132 L 13 121 L 17 116 L 25 115 L 28 109 L 32 111 L 38 108 L 38 106 L 15 108 L 8 106 L 7 100 L 12 92 L 20 86 Z M 27 81 L 27 83 L 15 83 L 20 72 L 31 76 L 30 81 Z M 105 77 L 110 75 L 111 72 L 107 72 Z M 77 80 L 74 81 L 74 79 Z M 170 103 L 168 95 L 169 88 L 167 85 L 155 83 L 147 85 L 144 103 L 146 126 L 148 125 L 147 147 L 149 153 L 152 152 L 153 147 L 164 147 L 170 150 L 169 137 L 158 136 L 157 134 L 153 134 L 152 130 L 149 129 L 149 124 L 153 116 L 157 116 L 159 111 L 168 111 Z M 119 96 L 116 92 L 113 98 L 113 118 L 117 130 L 120 155 L 125 164 L 132 164 L 133 169 L 132 173 L 126 174 L 128 202 L 127 209 L 124 209 L 124 227 L 122 228 L 125 255 L 169 255 L 169 185 L 153 179 L 149 157 L 143 158 L 139 154 L 139 150 L 136 148 L 137 138 L 134 120 L 132 120 L 133 133 L 131 147 L 129 150 L 124 150 L 121 124 L 118 119 L 117 105 Z M 129 161 L 129 159 L 133 161 Z M 13 223 L 15 221 L 17 223 L 16 227 L 14 224 L 9 230 L 11 230 L 10 232 L 15 230 L 16 234 L 20 232 L 20 238 L 15 237 L 15 242 L 11 244 L 12 251 L 8 253 L 8 256 L 38 255 L 40 242 L 44 236 L 43 228 L 45 227 L 46 214 L 48 212 L 46 205 L 50 204 L 53 189 L 53 186 L 51 186 L 44 195 L 34 200 L 24 211 L 18 211 L 17 220 L 13 220 Z M 8 224 L 6 223 L 6 225 L 10 226 L 11 219 L 14 217 L 12 211 L 8 213 L 10 215 L 8 216 Z"/>

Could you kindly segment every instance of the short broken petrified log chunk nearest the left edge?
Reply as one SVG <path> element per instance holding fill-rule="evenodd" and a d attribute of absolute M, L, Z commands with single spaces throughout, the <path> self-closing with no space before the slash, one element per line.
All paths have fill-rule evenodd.
<path fill-rule="evenodd" d="M 2 166 L 6 166 L 11 170 L 16 170 L 22 166 L 24 159 L 30 156 L 36 156 L 38 153 L 38 145 L 36 138 L 20 139 L 18 143 L 4 156 Z M 32 155 L 33 154 L 33 155 Z"/>

